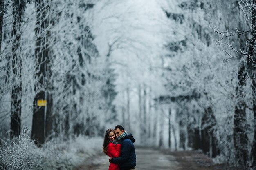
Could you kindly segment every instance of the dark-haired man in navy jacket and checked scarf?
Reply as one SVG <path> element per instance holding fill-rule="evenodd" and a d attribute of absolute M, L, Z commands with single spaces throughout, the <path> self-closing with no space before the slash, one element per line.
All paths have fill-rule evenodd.
<path fill-rule="evenodd" d="M 118 143 L 121 144 L 121 155 L 117 158 L 110 157 L 109 161 L 119 164 L 120 170 L 135 170 L 136 154 L 133 145 L 135 139 L 133 138 L 132 134 L 128 135 L 121 125 L 117 125 L 114 130 Z"/>

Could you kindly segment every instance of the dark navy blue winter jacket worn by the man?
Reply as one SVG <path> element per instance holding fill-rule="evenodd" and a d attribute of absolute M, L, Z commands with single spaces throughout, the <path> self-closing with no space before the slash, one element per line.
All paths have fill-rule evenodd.
<path fill-rule="evenodd" d="M 135 139 L 132 134 L 129 134 L 121 140 L 121 156 L 112 158 L 111 162 L 119 164 L 120 170 L 134 169 L 136 166 L 136 154 L 133 145 Z"/>

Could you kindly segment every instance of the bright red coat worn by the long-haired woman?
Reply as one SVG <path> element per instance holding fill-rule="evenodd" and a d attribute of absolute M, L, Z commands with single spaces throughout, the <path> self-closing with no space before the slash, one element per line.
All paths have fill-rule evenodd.
<path fill-rule="evenodd" d="M 107 147 L 107 154 L 108 156 L 115 158 L 119 157 L 121 153 L 121 145 L 120 144 L 113 144 L 109 143 Z M 119 170 L 119 165 L 115 163 L 110 163 L 108 170 Z"/>

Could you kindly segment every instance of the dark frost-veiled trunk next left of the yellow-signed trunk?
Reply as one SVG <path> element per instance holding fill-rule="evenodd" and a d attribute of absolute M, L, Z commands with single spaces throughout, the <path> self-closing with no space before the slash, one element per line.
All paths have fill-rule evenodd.
<path fill-rule="evenodd" d="M 22 60 L 20 56 L 20 37 L 22 15 L 24 13 L 25 2 L 15 0 L 13 2 L 13 28 L 11 36 L 12 43 L 12 73 L 16 81 L 12 84 L 11 89 L 11 137 L 20 135 L 21 128 L 21 97 L 22 97 L 22 83 L 21 83 L 21 67 Z"/>

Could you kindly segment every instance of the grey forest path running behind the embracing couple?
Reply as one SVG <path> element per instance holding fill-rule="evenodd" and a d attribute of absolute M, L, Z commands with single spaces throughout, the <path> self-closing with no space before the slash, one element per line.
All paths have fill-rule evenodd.
<path fill-rule="evenodd" d="M 215 165 L 211 158 L 197 151 L 157 150 L 153 148 L 136 148 L 135 170 L 245 170 L 225 164 Z M 88 165 L 80 165 L 75 170 L 108 170 L 108 156 L 100 155 L 87 160 Z"/>

